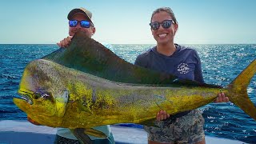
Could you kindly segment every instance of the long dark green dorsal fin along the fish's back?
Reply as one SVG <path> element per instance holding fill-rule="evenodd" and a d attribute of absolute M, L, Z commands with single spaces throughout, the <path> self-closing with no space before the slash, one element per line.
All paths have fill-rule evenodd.
<path fill-rule="evenodd" d="M 136 66 L 118 57 L 101 43 L 89 38 L 87 34 L 78 31 L 74 34 L 70 46 L 60 48 L 42 59 L 56 62 L 62 66 L 80 70 L 87 74 L 105 78 L 114 82 L 151 84 L 154 86 L 206 86 L 201 82 L 178 80 L 173 74 L 166 74 Z M 214 86 L 216 87 L 216 86 Z"/>

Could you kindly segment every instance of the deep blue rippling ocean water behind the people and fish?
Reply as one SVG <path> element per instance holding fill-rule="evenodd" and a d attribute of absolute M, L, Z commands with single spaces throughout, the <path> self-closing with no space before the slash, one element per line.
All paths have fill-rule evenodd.
<path fill-rule="evenodd" d="M 152 45 L 112 45 L 119 57 L 134 63 L 138 54 Z M 206 83 L 227 86 L 256 58 L 256 44 L 252 45 L 190 45 L 202 61 Z M 26 114 L 12 102 L 26 64 L 57 50 L 56 45 L 0 45 L 0 120 L 25 120 Z M 247 88 L 256 106 L 256 76 Z M 233 103 L 210 103 L 200 108 L 206 120 L 206 135 L 256 143 L 256 121 Z M 142 127 L 134 124 L 123 126 Z"/>

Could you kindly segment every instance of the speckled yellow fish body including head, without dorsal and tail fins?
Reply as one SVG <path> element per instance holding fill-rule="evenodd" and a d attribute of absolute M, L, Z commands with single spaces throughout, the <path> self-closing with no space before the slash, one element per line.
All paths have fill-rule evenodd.
<path fill-rule="evenodd" d="M 214 101 L 220 91 L 204 86 L 159 87 L 111 82 L 39 59 L 26 66 L 18 91 L 32 104 L 17 98 L 14 103 L 42 125 L 89 129 L 115 123 L 146 124 L 143 122 L 148 120 L 153 124 L 159 110 L 168 114 L 193 110 Z M 227 89 L 222 91 L 230 101 L 235 99 Z M 34 98 L 34 93 L 38 97 Z"/>

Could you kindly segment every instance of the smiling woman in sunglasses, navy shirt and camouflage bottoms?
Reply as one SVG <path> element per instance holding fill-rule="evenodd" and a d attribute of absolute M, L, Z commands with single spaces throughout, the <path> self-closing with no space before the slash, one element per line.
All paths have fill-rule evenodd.
<path fill-rule="evenodd" d="M 138 55 L 135 65 L 204 82 L 198 53 L 185 46 L 174 44 L 178 22 L 169 7 L 154 10 L 151 16 L 151 32 L 157 46 Z M 215 102 L 228 102 L 225 94 L 218 94 Z M 164 121 L 162 121 L 164 120 Z M 149 143 L 206 143 L 204 119 L 199 110 L 191 110 L 170 116 L 161 110 L 157 114 L 158 127 L 145 126 Z"/>

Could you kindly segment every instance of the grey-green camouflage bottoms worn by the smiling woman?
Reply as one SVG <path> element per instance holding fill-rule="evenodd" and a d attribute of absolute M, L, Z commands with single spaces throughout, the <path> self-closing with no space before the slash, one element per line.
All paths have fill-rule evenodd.
<path fill-rule="evenodd" d="M 148 139 L 154 142 L 168 143 L 196 143 L 205 138 L 203 125 L 204 118 L 199 110 L 192 110 L 174 122 L 155 122 L 159 127 L 144 126 Z"/>

